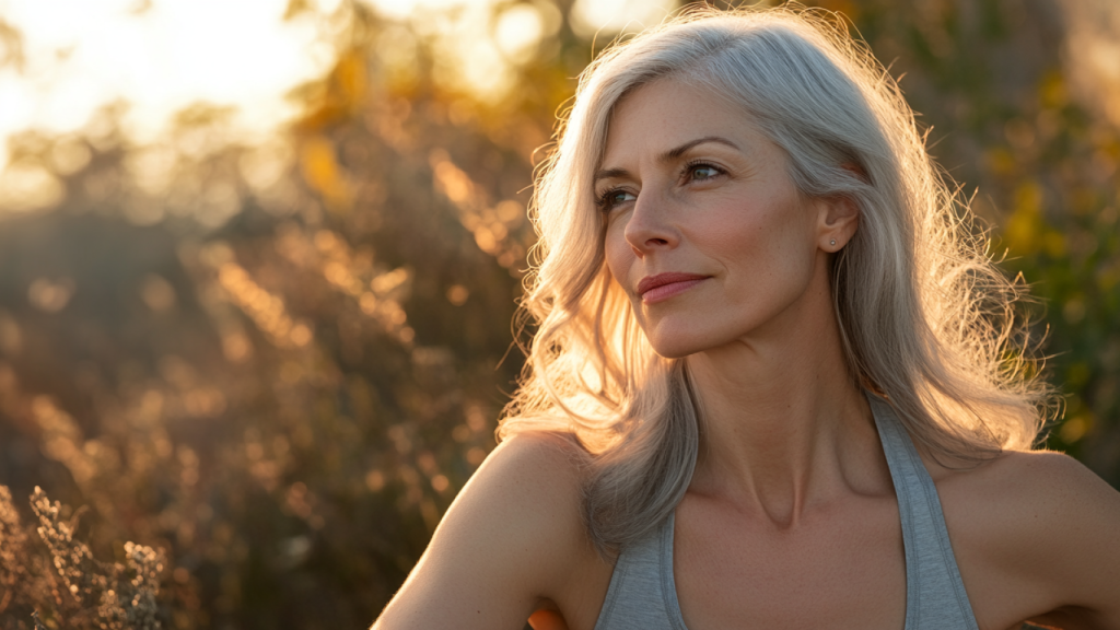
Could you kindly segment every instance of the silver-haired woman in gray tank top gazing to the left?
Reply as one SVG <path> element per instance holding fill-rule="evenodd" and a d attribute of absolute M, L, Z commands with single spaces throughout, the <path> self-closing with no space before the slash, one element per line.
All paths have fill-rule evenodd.
<path fill-rule="evenodd" d="M 1120 628 L 1120 494 L 1030 452 L 1016 287 L 846 35 L 616 45 L 538 184 L 504 441 L 375 628 Z"/>

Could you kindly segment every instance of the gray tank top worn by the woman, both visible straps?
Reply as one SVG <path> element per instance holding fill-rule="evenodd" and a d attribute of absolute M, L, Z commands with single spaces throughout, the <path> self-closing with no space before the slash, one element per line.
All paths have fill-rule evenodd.
<path fill-rule="evenodd" d="M 898 498 L 906 553 L 905 630 L 979 630 L 941 500 L 890 406 L 868 395 Z M 618 556 L 595 630 L 687 630 L 673 582 L 673 516 Z"/>

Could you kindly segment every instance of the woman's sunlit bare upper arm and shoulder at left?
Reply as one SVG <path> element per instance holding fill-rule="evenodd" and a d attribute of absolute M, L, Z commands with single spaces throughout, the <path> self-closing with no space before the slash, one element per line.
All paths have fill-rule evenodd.
<path fill-rule="evenodd" d="M 374 629 L 523 628 L 587 549 L 573 448 L 532 434 L 500 445 Z"/>

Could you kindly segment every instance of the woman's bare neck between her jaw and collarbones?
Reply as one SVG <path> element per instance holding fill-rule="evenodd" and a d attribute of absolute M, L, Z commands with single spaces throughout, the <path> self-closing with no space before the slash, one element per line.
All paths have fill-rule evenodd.
<path fill-rule="evenodd" d="M 806 299 L 749 339 L 687 359 L 704 421 L 690 492 L 731 501 L 782 528 L 844 493 L 890 485 L 828 291 L 824 315 Z"/>

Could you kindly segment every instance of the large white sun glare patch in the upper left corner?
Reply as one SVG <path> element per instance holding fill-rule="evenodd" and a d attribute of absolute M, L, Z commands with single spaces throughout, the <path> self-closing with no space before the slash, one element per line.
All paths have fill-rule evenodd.
<path fill-rule="evenodd" d="M 284 94 L 334 61 L 323 29 L 284 20 L 286 8 L 287 0 L 0 1 L 25 59 L 0 68 L 0 140 L 31 129 L 74 132 L 115 102 L 127 103 L 123 131 L 140 143 L 195 103 L 236 109 L 246 132 L 271 130 L 296 113 Z"/>

